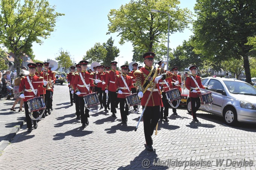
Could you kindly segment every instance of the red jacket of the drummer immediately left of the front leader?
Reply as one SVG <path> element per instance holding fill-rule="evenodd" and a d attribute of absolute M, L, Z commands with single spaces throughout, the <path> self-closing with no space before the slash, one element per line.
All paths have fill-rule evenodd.
<path fill-rule="evenodd" d="M 133 86 L 133 79 L 131 76 L 129 75 L 125 75 L 122 74 L 123 78 L 125 79 L 125 82 L 131 92 L 131 88 L 134 87 Z M 129 90 L 127 89 L 127 87 L 125 86 L 125 83 L 123 82 L 123 79 L 121 77 L 121 75 L 117 75 L 116 78 L 116 83 L 115 83 L 115 88 L 116 88 L 116 92 L 118 92 L 118 90 L 121 90 L 123 93 L 130 93 Z M 117 94 L 117 98 L 125 98 L 125 96 L 128 96 L 129 94 Z"/>

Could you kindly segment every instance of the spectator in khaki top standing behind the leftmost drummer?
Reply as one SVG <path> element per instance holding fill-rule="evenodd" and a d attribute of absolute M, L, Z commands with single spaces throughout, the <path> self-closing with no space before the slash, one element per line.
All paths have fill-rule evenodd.
<path fill-rule="evenodd" d="M 24 111 L 24 110 L 22 110 L 23 98 L 20 98 L 20 92 L 19 92 L 19 86 L 20 86 L 20 82 L 21 82 L 22 78 L 24 78 L 23 76 L 25 76 L 25 74 L 21 73 L 20 76 L 14 80 L 13 93 L 14 93 L 14 99 L 16 99 L 16 100 L 14 101 L 14 104 L 12 105 L 11 111 L 16 111 L 15 105 L 18 103 L 18 101 L 20 101 L 19 112 Z"/>

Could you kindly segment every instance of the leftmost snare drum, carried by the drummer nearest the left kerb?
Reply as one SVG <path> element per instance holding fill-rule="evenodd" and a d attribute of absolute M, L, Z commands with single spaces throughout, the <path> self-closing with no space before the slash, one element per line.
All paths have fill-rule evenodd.
<path fill-rule="evenodd" d="M 27 105 L 29 106 L 30 112 L 39 111 L 46 108 L 46 105 L 44 104 L 44 99 L 42 96 L 28 99 Z"/>

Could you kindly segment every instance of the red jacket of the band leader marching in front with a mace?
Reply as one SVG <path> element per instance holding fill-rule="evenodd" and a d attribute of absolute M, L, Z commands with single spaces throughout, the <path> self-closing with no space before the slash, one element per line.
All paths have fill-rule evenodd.
<path fill-rule="evenodd" d="M 151 68 L 149 68 L 148 66 L 145 66 L 145 67 L 141 68 L 140 70 L 136 70 L 134 72 L 134 77 L 136 77 L 135 78 L 135 84 L 136 84 L 136 89 L 137 90 L 139 90 L 139 91 L 144 90 L 141 86 L 144 83 L 144 81 L 145 81 L 146 77 L 148 76 L 148 74 L 150 73 L 150 71 L 151 71 Z M 155 76 L 155 77 L 157 77 L 159 72 L 160 72 L 160 69 L 159 68 L 154 68 L 153 72 L 155 72 L 155 71 L 157 71 L 157 74 Z M 166 79 L 166 78 L 171 77 L 172 73 L 171 72 L 166 72 L 165 74 L 162 74 L 162 75 L 163 75 L 163 79 Z M 153 79 L 152 82 L 154 82 L 154 79 Z M 152 83 L 150 84 L 149 89 L 146 90 L 145 93 L 143 94 L 143 98 L 141 98 L 141 105 L 142 106 L 145 106 L 146 101 L 149 98 L 149 94 L 152 90 L 150 88 L 152 88 Z M 158 106 L 158 105 L 162 105 L 161 103 L 162 103 L 162 99 L 161 99 L 160 92 L 158 90 L 158 87 L 155 86 L 154 91 L 152 92 L 152 95 L 149 99 L 149 102 L 148 102 L 147 106 Z"/>

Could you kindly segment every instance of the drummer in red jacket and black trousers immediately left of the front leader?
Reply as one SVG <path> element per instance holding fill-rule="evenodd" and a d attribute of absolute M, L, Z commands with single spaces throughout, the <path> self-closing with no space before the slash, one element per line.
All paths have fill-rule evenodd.
<path fill-rule="evenodd" d="M 116 78 L 116 83 L 115 83 L 115 88 L 117 94 L 117 98 L 119 98 L 120 101 L 120 114 L 121 114 L 121 119 L 122 123 L 127 123 L 127 115 L 128 115 L 128 105 L 125 99 L 125 96 L 128 96 L 130 94 L 130 88 L 134 87 L 133 86 L 133 77 L 127 75 L 128 72 L 128 65 L 122 65 L 122 75 L 117 75 Z M 126 107 L 125 107 L 126 105 Z"/>

